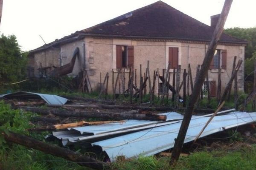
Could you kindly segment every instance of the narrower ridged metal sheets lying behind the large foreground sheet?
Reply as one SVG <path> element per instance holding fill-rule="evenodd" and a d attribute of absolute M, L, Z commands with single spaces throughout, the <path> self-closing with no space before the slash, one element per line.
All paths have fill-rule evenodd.
<path fill-rule="evenodd" d="M 230 109 L 227 111 L 221 111 L 220 113 L 226 113 L 233 111 Z M 163 125 L 169 125 L 172 123 L 180 122 L 183 116 L 176 112 L 161 113 L 167 116 L 167 121 L 143 121 L 143 120 L 126 120 L 125 123 L 110 123 L 104 125 L 83 126 L 69 128 L 70 131 L 56 131 L 52 135 L 62 140 L 63 145 L 72 144 L 73 142 L 95 142 L 103 139 L 110 138 L 111 136 L 120 136 L 124 133 L 132 133 L 140 130 L 159 127 Z M 211 116 L 207 114 L 204 116 L 192 116 L 192 119 L 199 119 L 205 116 Z"/>

